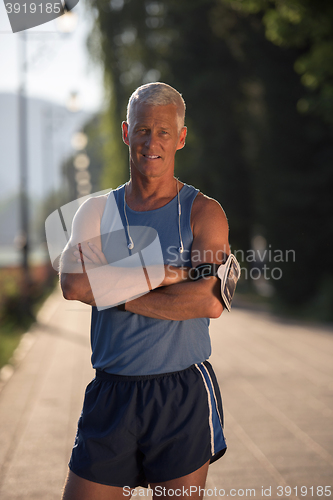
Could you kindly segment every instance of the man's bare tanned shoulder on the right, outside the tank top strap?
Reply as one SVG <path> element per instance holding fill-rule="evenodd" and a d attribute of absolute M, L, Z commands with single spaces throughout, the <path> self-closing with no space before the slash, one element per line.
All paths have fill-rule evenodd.
<path fill-rule="evenodd" d="M 216 230 L 228 230 L 227 216 L 220 203 L 200 192 L 193 202 L 191 225 L 193 235 L 202 227 L 215 226 Z"/>

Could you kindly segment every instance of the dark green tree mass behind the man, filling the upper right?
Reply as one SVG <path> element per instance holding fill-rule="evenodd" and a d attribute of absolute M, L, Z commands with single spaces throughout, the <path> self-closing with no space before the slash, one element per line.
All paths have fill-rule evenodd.
<path fill-rule="evenodd" d="M 312 297 L 330 293 L 331 2 L 92 5 L 111 92 L 108 163 L 122 164 L 113 133 L 132 91 L 148 81 L 173 85 L 187 103 L 188 126 L 176 175 L 221 202 L 233 249 L 245 251 L 260 232 L 272 248 L 295 250 L 295 262 L 282 262 L 283 278 L 274 283 L 285 304 L 310 307 Z M 318 249 L 325 267 L 310 272 Z"/>

